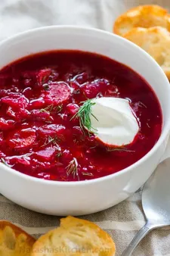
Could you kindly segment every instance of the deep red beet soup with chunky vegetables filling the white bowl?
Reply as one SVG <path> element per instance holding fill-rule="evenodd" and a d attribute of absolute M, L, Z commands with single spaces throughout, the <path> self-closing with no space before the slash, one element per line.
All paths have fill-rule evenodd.
<path fill-rule="evenodd" d="M 131 144 L 110 148 L 82 130 L 82 101 L 127 98 L 140 129 Z M 91 180 L 144 157 L 162 131 L 159 101 L 148 83 L 101 55 L 52 51 L 30 55 L 0 71 L 0 158 L 14 170 L 45 180 Z"/>

